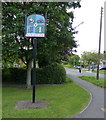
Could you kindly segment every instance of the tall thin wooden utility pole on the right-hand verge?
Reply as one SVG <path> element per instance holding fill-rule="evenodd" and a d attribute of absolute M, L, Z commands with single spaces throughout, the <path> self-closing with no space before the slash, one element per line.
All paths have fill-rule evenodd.
<path fill-rule="evenodd" d="M 100 17 L 100 33 L 99 33 L 99 50 L 98 50 L 98 65 L 97 65 L 97 76 L 96 79 L 99 79 L 99 64 L 100 64 L 100 48 L 101 48 L 101 32 L 102 32 L 102 13 L 103 7 L 101 7 L 101 17 Z"/>

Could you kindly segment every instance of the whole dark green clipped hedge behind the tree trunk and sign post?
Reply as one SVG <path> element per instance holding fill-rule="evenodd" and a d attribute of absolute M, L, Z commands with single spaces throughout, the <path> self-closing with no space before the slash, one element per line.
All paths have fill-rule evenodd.
<path fill-rule="evenodd" d="M 61 84 L 66 81 L 66 71 L 64 67 L 58 63 L 53 63 L 44 68 L 36 70 L 37 84 Z M 27 70 L 22 68 L 3 69 L 3 82 L 10 83 L 26 83 Z"/>

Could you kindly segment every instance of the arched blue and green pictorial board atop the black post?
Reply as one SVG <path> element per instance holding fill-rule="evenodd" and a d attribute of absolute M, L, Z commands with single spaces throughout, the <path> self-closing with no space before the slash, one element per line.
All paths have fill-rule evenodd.
<path fill-rule="evenodd" d="M 45 18 L 34 14 L 27 17 L 26 37 L 45 37 Z"/>

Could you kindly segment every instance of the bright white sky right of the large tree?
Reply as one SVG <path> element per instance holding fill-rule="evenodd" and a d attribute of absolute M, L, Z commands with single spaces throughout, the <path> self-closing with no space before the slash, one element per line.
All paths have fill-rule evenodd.
<path fill-rule="evenodd" d="M 76 28 L 78 34 L 75 40 L 79 45 L 77 50 L 81 56 L 83 51 L 96 51 L 99 49 L 100 15 L 103 7 L 101 53 L 104 51 L 104 2 L 106 0 L 81 0 L 81 8 L 74 10 L 73 27 L 84 22 Z"/>

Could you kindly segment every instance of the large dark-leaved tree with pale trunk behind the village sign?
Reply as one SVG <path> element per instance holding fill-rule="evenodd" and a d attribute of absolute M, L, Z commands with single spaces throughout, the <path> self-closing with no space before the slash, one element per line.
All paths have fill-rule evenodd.
<path fill-rule="evenodd" d="M 80 7 L 79 2 L 5 2 L 2 7 L 3 60 L 8 61 L 12 57 L 23 61 L 27 68 L 27 86 L 31 85 L 33 40 L 24 36 L 25 16 L 47 15 L 46 38 L 37 39 L 40 67 L 60 59 L 65 56 L 63 53 L 77 46 L 72 31 L 74 15 L 72 12 L 67 13 L 67 9 Z"/>

